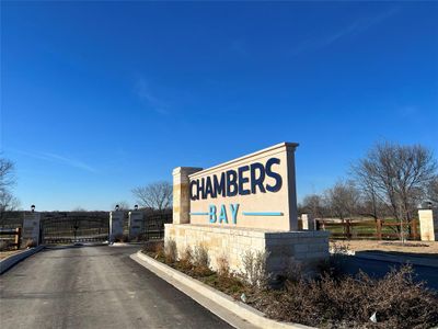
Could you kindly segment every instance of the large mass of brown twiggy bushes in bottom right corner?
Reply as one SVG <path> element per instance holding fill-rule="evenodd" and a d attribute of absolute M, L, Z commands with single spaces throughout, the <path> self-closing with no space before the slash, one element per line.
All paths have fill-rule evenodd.
<path fill-rule="evenodd" d="M 335 280 L 288 281 L 257 307 L 269 317 L 315 327 L 429 328 L 438 324 L 438 296 L 415 283 L 411 266 L 381 280 L 360 273 Z M 370 321 L 377 313 L 377 324 Z"/>

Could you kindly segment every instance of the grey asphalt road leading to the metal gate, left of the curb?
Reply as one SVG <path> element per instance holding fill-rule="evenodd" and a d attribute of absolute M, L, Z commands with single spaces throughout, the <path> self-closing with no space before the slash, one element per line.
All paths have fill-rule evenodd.
<path fill-rule="evenodd" d="M 43 250 L 0 276 L 0 327 L 231 328 L 131 259 L 132 247 Z"/>

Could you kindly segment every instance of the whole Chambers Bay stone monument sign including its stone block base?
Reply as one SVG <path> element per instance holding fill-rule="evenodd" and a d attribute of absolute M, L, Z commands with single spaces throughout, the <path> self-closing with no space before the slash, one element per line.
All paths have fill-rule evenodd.
<path fill-rule="evenodd" d="M 270 272 L 291 260 L 310 270 L 325 260 L 330 234 L 298 230 L 297 146 L 277 144 L 204 170 L 175 168 L 165 241 L 174 240 L 180 252 L 203 245 L 214 269 L 227 256 L 231 270 L 241 270 L 246 250 L 267 251 Z"/>

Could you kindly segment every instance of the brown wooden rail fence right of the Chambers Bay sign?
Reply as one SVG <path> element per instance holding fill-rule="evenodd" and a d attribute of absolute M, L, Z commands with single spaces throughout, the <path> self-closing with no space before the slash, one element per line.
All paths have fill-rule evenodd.
<path fill-rule="evenodd" d="M 366 222 L 345 219 L 343 223 L 316 219 L 316 230 L 328 230 L 332 232 L 332 238 L 341 239 L 400 239 L 402 227 L 405 239 L 418 240 L 418 219 L 413 219 L 411 223 L 403 225 L 394 220 L 385 222 L 384 219 Z"/>

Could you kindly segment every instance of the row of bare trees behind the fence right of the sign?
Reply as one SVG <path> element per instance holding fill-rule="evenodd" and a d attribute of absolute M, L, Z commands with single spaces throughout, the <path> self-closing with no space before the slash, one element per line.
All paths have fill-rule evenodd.
<path fill-rule="evenodd" d="M 438 205 L 437 160 L 422 145 L 379 143 L 356 160 L 345 179 L 307 195 L 300 213 L 314 218 L 391 217 L 410 223 L 419 207 Z"/>

